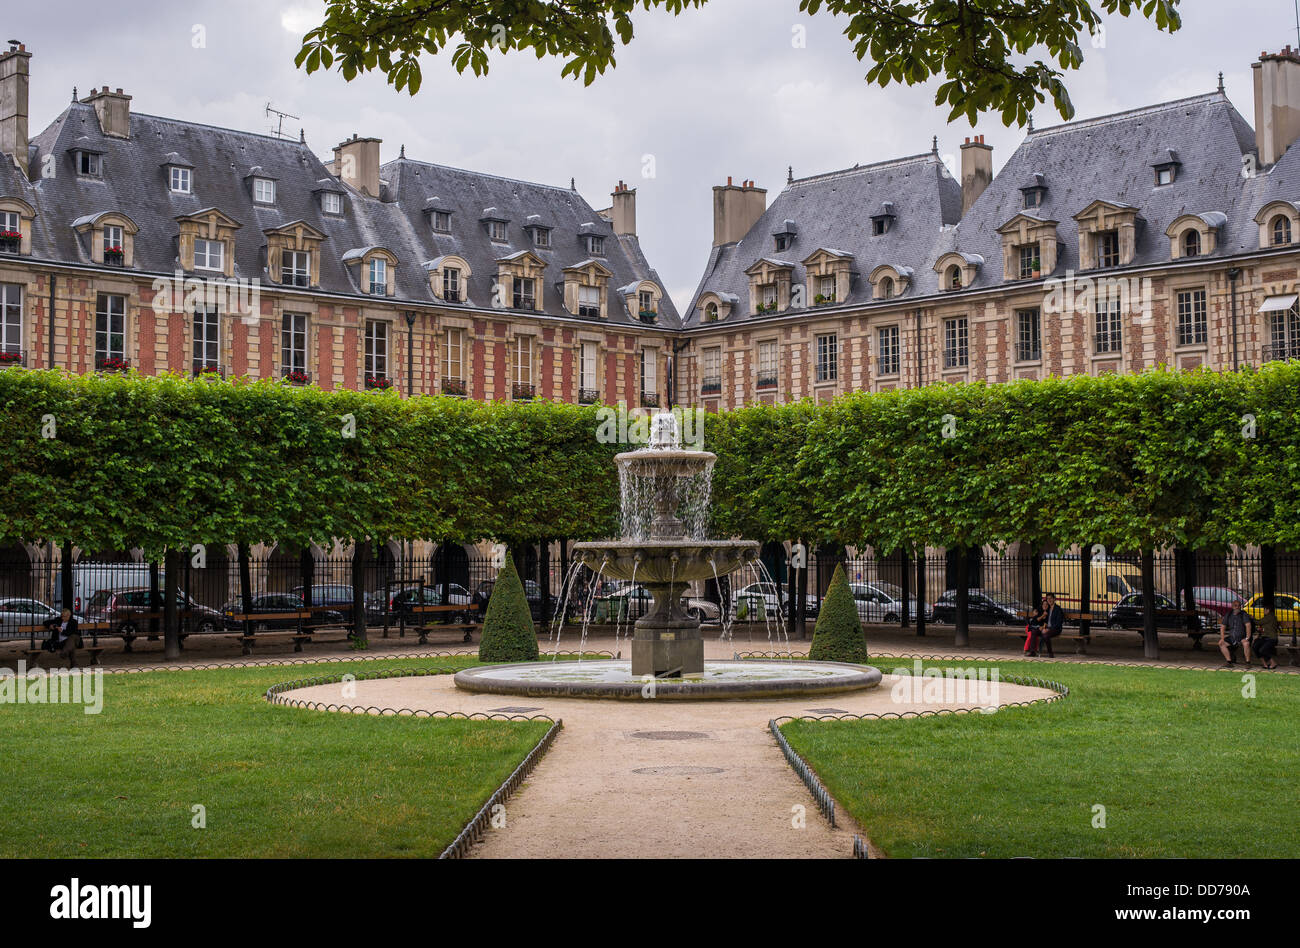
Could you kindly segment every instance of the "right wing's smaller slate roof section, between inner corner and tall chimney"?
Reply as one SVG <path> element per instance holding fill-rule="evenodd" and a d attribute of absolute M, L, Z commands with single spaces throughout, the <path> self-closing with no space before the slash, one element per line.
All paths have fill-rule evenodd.
<path fill-rule="evenodd" d="M 885 234 L 874 237 L 871 217 L 881 213 L 887 202 L 896 217 Z M 806 282 L 802 261 L 818 250 L 854 257 L 857 277 L 849 296 L 836 306 L 818 307 L 815 312 L 822 316 L 870 300 L 867 276 L 880 264 L 913 267 L 924 281 L 923 261 L 933 260 L 941 229 L 956 224 L 961 209 L 961 185 L 932 152 L 796 179 L 776 196 L 744 239 L 714 247 L 684 316 L 685 325 L 699 325 L 697 303 L 703 293 L 716 293 L 724 299 L 736 296 L 744 308 L 744 300 L 749 299 L 745 270 L 759 259 L 775 260 L 772 234 L 786 231 L 786 221 L 793 221 L 796 228 L 781 257 L 794 264 L 796 283 Z M 733 311 L 727 321 L 737 319 L 749 317 Z"/>

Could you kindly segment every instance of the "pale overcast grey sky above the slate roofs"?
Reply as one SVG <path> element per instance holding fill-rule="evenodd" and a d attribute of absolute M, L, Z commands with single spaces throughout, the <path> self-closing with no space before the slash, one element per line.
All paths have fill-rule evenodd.
<path fill-rule="evenodd" d="M 1095 4 L 1096 5 L 1096 4 Z M 14 8 L 16 7 L 16 8 Z M 844 23 L 807 17 L 798 0 L 710 0 L 680 17 L 641 10 L 636 39 L 593 86 L 560 78 L 560 60 L 494 56 L 486 77 L 426 57 L 415 98 L 382 75 L 346 82 L 294 66 L 321 0 L 44 0 L 5 10 L 3 39 L 32 53 L 31 134 L 68 104 L 73 86 L 122 87 L 131 108 L 248 131 L 274 130 L 268 104 L 296 118 L 322 159 L 352 134 L 384 139 L 385 161 L 407 156 L 567 186 L 595 208 L 621 179 L 637 189 L 641 246 L 679 308 L 708 259 L 712 187 L 754 179 L 768 202 L 796 177 L 931 150 L 956 161 L 967 135 L 993 146 L 994 169 L 1023 139 L 993 114 L 975 129 L 945 121 L 937 81 L 868 86 Z M 1209 92 L 1218 73 L 1253 122 L 1251 64 L 1300 48 L 1294 0 L 1183 0 L 1183 29 L 1106 20 L 1066 77 L 1076 118 Z M 797 27 L 803 27 L 802 30 Z M 802 40 L 802 44 L 800 43 Z M 1063 121 L 1050 103 L 1035 125 Z"/>

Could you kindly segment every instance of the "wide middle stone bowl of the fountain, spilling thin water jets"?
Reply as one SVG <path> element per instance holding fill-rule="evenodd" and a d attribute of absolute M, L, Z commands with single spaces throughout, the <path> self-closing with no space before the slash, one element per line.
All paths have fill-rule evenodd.
<path fill-rule="evenodd" d="M 642 583 L 692 583 L 734 572 L 758 559 L 753 540 L 597 540 L 573 545 L 593 572 Z"/>

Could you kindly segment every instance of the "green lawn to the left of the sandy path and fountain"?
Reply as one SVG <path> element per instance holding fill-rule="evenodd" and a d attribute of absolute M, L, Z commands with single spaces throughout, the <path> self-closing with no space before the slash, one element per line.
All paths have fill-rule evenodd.
<path fill-rule="evenodd" d="M 104 710 L 0 705 L 0 856 L 437 856 L 546 732 L 268 705 L 268 685 L 469 659 L 104 676 Z M 207 828 L 191 827 L 207 809 Z"/>

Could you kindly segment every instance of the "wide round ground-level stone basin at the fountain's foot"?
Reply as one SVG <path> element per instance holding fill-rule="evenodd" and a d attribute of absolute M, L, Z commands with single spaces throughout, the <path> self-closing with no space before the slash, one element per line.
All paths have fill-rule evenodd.
<path fill-rule="evenodd" d="M 525 662 L 456 672 L 456 688 L 532 698 L 784 698 L 875 688 L 880 671 L 868 665 L 805 661 L 708 662 L 684 678 L 634 675 L 632 662 Z"/>

